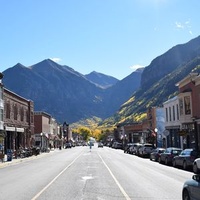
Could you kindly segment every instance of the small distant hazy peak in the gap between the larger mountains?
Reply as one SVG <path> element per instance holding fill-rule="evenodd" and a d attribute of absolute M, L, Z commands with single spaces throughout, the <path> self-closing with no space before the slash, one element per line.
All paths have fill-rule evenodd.
<path fill-rule="evenodd" d="M 102 88 L 108 88 L 111 87 L 113 85 L 115 85 L 119 80 L 112 77 L 112 76 L 108 76 L 99 72 L 91 72 L 89 74 L 86 74 L 85 77 L 90 80 L 91 82 L 93 82 L 94 84 L 97 84 L 98 86 L 102 87 Z"/>

